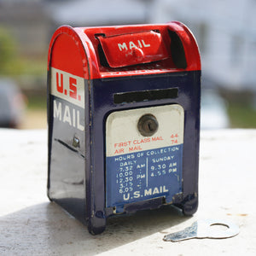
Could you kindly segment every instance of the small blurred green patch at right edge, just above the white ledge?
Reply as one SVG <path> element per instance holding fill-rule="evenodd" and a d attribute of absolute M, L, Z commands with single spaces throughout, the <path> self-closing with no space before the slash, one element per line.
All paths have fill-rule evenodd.
<path fill-rule="evenodd" d="M 249 103 L 229 102 L 231 128 L 256 128 L 256 109 Z"/>

